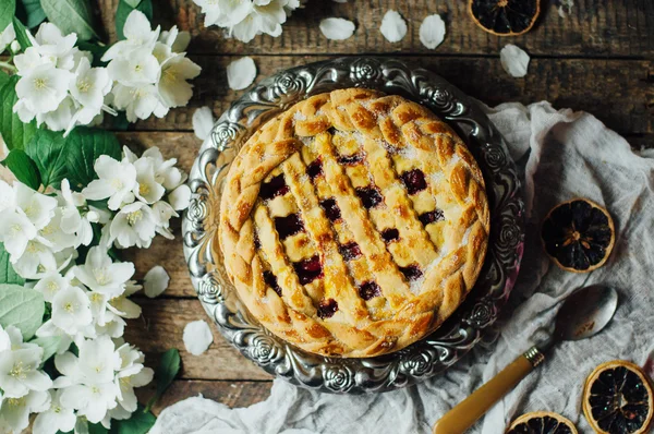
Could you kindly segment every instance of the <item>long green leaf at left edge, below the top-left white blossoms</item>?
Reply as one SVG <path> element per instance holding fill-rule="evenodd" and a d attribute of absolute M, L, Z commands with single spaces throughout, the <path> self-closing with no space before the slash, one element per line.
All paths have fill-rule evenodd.
<path fill-rule="evenodd" d="M 0 134 L 10 149 L 23 149 L 36 132 L 36 121 L 23 123 L 13 112 L 13 106 L 19 100 L 15 86 L 19 76 L 13 75 L 0 89 Z"/>

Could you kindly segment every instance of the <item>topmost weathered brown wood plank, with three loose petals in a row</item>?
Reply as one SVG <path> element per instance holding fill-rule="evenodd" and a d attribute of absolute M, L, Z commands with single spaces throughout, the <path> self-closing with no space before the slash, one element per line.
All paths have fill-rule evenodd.
<path fill-rule="evenodd" d="M 97 0 L 102 22 L 116 37 L 113 13 L 118 0 Z M 558 14 L 557 1 L 543 1 L 536 26 L 525 35 L 501 38 L 479 28 L 470 19 L 463 0 L 351 0 L 340 4 L 329 0 L 308 0 L 283 25 L 280 37 L 257 36 L 250 44 L 226 37 L 226 31 L 204 27 L 204 14 L 192 0 L 157 1 L 155 21 L 164 28 L 177 24 L 194 36 L 189 48 L 194 53 L 361 53 L 393 52 L 438 55 L 497 53 L 508 43 L 532 55 L 545 56 L 632 56 L 654 55 L 654 3 L 650 0 L 577 0 L 567 17 Z M 379 33 L 382 17 L 389 9 L 407 20 L 409 33 L 390 44 Z M 419 38 L 422 20 L 438 13 L 447 35 L 436 49 L 425 48 Z M 326 39 L 318 28 L 320 20 L 339 16 L 356 23 L 356 33 L 343 41 Z"/>

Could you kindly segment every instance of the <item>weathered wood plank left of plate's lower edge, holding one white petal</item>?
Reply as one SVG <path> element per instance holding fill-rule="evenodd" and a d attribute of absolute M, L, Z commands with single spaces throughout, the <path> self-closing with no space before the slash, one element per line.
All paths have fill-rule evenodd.
<path fill-rule="evenodd" d="M 156 366 L 167 349 L 177 348 L 182 358 L 180 378 L 270 379 L 270 375 L 241 355 L 213 325 L 214 343 L 209 349 L 201 355 L 186 352 L 182 340 L 184 326 L 196 320 L 211 324 L 198 300 L 135 298 L 134 301 L 143 308 L 143 316 L 128 323 L 124 337 L 145 353 L 148 366 Z"/>

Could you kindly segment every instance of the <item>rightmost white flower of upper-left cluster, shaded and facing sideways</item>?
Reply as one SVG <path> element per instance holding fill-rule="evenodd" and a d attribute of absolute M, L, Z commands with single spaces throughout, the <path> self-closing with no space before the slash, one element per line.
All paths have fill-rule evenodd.
<path fill-rule="evenodd" d="M 175 55 L 161 64 L 161 79 L 158 83 L 159 97 L 168 107 L 181 107 L 189 104 L 193 96 L 193 85 L 187 80 L 199 75 L 202 69 L 184 57 Z"/>

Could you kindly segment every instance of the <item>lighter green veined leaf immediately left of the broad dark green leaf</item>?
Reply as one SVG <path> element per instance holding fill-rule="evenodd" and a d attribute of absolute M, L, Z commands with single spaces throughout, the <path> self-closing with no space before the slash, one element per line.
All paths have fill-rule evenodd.
<path fill-rule="evenodd" d="M 36 162 L 45 186 L 59 189 L 61 180 L 68 177 L 65 138 L 59 132 L 37 130 L 25 152 Z M 12 150 L 13 152 L 13 150 Z"/>

